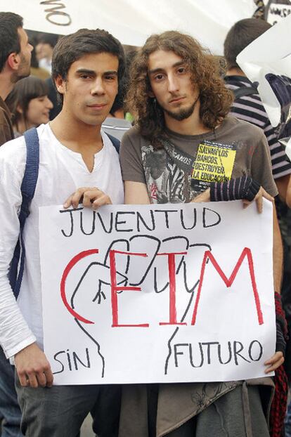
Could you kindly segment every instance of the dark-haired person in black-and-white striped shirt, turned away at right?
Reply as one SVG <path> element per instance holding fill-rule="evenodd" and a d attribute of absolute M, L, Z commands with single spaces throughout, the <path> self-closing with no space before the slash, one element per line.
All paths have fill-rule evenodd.
<path fill-rule="evenodd" d="M 288 159 L 283 145 L 281 145 L 280 131 L 284 130 L 284 123 L 280 123 L 275 129 L 271 125 L 268 114 L 264 108 L 261 98 L 257 91 L 257 87 L 252 84 L 241 70 L 240 66 L 236 62 L 238 54 L 243 49 L 252 43 L 255 39 L 264 34 L 271 28 L 271 24 L 264 20 L 258 20 L 256 18 L 246 18 L 236 22 L 233 27 L 228 31 L 226 39 L 224 41 L 224 57 L 226 59 L 226 77 L 224 81 L 226 87 L 233 92 L 234 101 L 231 106 L 231 115 L 238 119 L 245 120 L 260 127 L 266 136 L 268 141 L 269 150 L 271 153 L 272 173 L 275 183 L 278 188 L 279 195 L 276 199 L 276 209 L 279 218 L 280 230 L 283 236 L 283 249 L 284 249 L 284 271 L 283 271 L 283 284 L 280 287 L 282 294 L 283 308 L 285 310 L 287 322 L 289 325 L 289 331 L 291 329 L 291 287 L 290 287 L 290 236 L 287 235 L 286 230 L 291 228 L 291 216 L 290 210 L 287 205 L 291 204 L 291 190 L 290 186 L 290 174 L 291 163 Z M 287 203 L 287 205 L 286 205 Z M 288 262 L 289 261 L 289 262 Z M 290 342 L 287 343 L 286 363 L 285 369 L 291 376 L 291 362 L 288 358 L 290 356 Z M 272 436 L 280 435 L 283 427 L 283 419 L 285 414 L 285 408 L 287 403 L 287 377 L 283 367 L 280 367 L 276 371 L 276 392 L 271 409 L 271 429 Z M 291 415 L 291 406 L 290 406 Z M 291 422 L 291 420 L 290 420 Z M 291 433 L 290 433 L 291 435 Z"/>

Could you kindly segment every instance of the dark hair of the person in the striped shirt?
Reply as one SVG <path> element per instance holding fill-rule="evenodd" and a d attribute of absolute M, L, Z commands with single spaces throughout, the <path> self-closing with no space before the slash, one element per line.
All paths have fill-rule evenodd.
<path fill-rule="evenodd" d="M 224 58 L 226 58 L 227 68 L 240 68 L 236 63 L 238 54 L 270 27 L 269 22 L 258 18 L 245 18 L 235 22 L 224 41 Z"/>

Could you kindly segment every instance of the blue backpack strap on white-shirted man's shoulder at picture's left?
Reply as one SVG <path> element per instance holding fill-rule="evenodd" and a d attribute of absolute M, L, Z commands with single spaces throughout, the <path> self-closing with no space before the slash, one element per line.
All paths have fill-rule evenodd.
<path fill-rule="evenodd" d="M 25 174 L 21 184 L 22 204 L 18 216 L 20 223 L 20 234 L 16 244 L 13 259 L 9 270 L 9 280 L 15 298 L 18 298 L 20 292 L 24 264 L 25 264 L 25 247 L 23 242 L 23 228 L 25 220 L 30 215 L 30 203 L 34 197 L 39 176 L 39 136 L 37 129 L 32 128 L 24 133 L 26 145 L 26 165 Z"/>

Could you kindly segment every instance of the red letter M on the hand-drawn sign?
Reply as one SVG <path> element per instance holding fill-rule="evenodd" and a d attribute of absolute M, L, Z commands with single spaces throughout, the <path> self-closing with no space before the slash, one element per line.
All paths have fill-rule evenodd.
<path fill-rule="evenodd" d="M 203 280 L 204 280 L 204 273 L 205 273 L 205 266 L 207 263 L 207 259 L 209 259 L 209 261 L 212 262 L 212 265 L 216 269 L 216 271 L 219 274 L 219 276 L 221 277 L 221 279 L 224 281 L 226 287 L 229 288 L 233 284 L 233 281 L 235 280 L 235 277 L 238 274 L 238 270 L 240 270 L 240 266 L 242 265 L 245 257 L 247 257 L 247 262 L 249 265 L 250 278 L 252 281 L 252 291 L 254 294 L 254 303 L 256 304 L 256 309 L 257 309 L 258 322 L 259 322 L 259 325 L 263 325 L 264 319 L 263 319 L 263 314 L 261 312 L 261 302 L 259 300 L 259 294 L 257 291 L 257 284 L 256 284 L 256 280 L 254 277 L 254 262 L 252 260 L 252 252 L 248 247 L 245 247 L 245 249 L 243 249 L 243 252 L 240 255 L 240 258 L 238 259 L 238 262 L 236 263 L 235 268 L 233 269 L 233 273 L 231 273 L 231 276 L 229 278 L 226 278 L 226 275 L 224 274 L 223 270 L 221 270 L 219 264 L 217 263 L 216 259 L 212 255 L 212 253 L 209 252 L 209 250 L 207 250 L 205 252 L 204 259 L 202 261 L 199 287 L 198 287 L 198 292 L 197 292 L 197 296 L 196 296 L 196 300 L 195 300 L 195 306 L 194 306 L 193 318 L 192 318 L 191 325 L 195 325 L 195 322 L 196 322 L 196 317 L 197 317 L 197 312 L 198 312 L 198 306 L 199 306 L 199 301 L 200 301 L 200 295 L 201 295 L 201 290 L 202 290 L 202 285 L 203 285 Z"/>

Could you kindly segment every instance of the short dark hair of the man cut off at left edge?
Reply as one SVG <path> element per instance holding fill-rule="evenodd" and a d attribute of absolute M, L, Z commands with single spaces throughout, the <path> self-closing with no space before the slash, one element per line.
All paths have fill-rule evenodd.
<path fill-rule="evenodd" d="M 18 29 L 23 27 L 23 19 L 17 13 L 0 12 L 0 72 L 11 53 L 19 53 L 20 37 Z"/>

